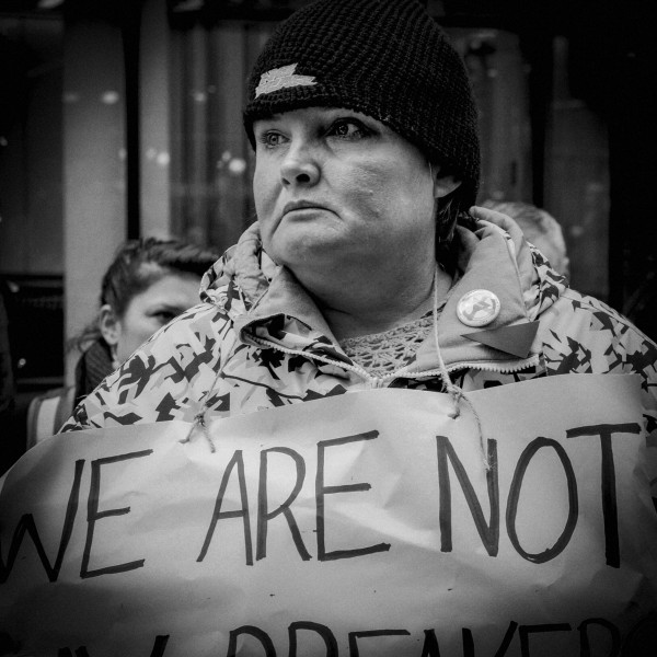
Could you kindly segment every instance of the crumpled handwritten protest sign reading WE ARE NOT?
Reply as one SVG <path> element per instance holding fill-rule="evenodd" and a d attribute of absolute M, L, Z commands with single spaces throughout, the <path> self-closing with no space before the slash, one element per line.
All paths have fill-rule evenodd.
<path fill-rule="evenodd" d="M 638 385 L 55 437 L 0 494 L 0 632 L 53 657 L 619 655 L 657 609 Z"/>

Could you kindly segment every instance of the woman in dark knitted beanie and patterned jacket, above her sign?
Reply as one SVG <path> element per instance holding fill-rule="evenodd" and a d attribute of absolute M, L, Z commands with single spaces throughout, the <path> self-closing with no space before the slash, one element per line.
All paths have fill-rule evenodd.
<path fill-rule="evenodd" d="M 639 373 L 655 427 L 655 345 L 568 289 L 504 215 L 468 212 L 476 112 L 458 54 L 418 3 L 299 10 L 255 65 L 244 125 L 257 222 L 206 275 L 203 303 L 65 431 L 381 387 L 461 400 L 568 372 Z"/>

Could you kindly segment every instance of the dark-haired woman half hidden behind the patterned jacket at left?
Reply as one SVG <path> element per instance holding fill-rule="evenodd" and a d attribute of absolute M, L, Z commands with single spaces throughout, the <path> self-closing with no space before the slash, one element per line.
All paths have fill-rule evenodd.
<path fill-rule="evenodd" d="M 158 328 L 198 301 L 215 253 L 176 240 L 130 240 L 105 272 L 94 321 L 73 341 L 81 351 L 76 384 L 31 402 L 27 447 L 51 436 L 74 406 Z"/>

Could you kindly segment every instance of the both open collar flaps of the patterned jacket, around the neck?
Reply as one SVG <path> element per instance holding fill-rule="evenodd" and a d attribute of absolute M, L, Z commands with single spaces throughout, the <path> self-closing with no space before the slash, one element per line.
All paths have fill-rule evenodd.
<path fill-rule="evenodd" d="M 537 275 L 527 242 L 518 235 L 511 238 L 502 228 L 486 221 L 480 221 L 477 227 L 475 232 L 458 228 L 462 244 L 459 258 L 462 272 L 448 293 L 437 324 L 440 353 L 447 367 L 483 361 L 494 366 L 512 366 L 523 360 L 518 355 L 465 337 L 466 334 L 495 334 L 500 328 L 528 324 L 531 321 L 528 306 L 538 295 Z M 293 274 L 285 267 L 269 267 L 273 272 L 270 279 L 265 278 L 262 272 L 256 273 L 257 267 L 253 263 L 254 258 L 260 257 L 258 250 L 262 252 L 260 235 L 256 227 L 247 232 L 246 239 L 238 245 L 243 262 L 230 270 L 233 279 L 240 281 L 241 276 L 242 280 L 247 280 L 249 286 L 257 290 L 244 304 L 233 306 L 230 312 L 240 339 L 253 344 L 255 336 L 295 350 L 328 351 L 344 360 L 322 313 Z M 459 321 L 457 308 L 464 295 L 477 289 L 494 292 L 499 299 L 500 312 L 487 326 L 472 328 Z M 527 357 L 530 353 L 538 353 L 538 345 L 528 349 Z M 416 362 L 411 369 L 416 372 L 428 371 L 435 369 L 437 364 L 438 354 L 431 335 L 420 345 Z"/>

